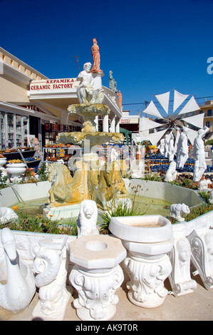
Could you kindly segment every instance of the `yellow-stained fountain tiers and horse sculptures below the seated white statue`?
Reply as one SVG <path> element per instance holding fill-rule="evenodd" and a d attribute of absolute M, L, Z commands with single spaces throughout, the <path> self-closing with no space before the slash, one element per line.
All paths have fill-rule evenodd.
<path fill-rule="evenodd" d="M 60 207 L 65 209 L 65 206 L 76 206 L 83 200 L 94 200 L 98 207 L 106 210 L 107 202 L 115 197 L 118 188 L 120 197 L 128 195 L 120 166 L 118 168 L 115 162 L 110 163 L 112 166 L 100 164 L 97 153 L 91 150 L 95 145 L 109 142 L 120 144 L 124 141 L 123 134 L 96 131 L 95 118 L 97 115 L 101 117 L 108 115 L 110 113 L 108 105 L 79 103 L 69 105 L 68 112 L 83 118 L 83 128 L 81 132 L 60 133 L 58 140 L 63 144 L 80 145 L 83 148 L 83 157 L 76 162 L 73 177 L 65 165 L 60 163 L 48 165 L 48 180 L 52 182 L 52 187 L 49 190 L 50 205 L 46 208 L 46 213 L 51 217 L 61 213 Z M 64 215 L 65 213 L 63 217 Z"/>

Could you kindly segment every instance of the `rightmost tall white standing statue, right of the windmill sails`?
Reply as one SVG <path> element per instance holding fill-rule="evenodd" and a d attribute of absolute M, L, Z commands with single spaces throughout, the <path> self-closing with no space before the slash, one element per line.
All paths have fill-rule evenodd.
<path fill-rule="evenodd" d="M 193 180 L 194 182 L 199 182 L 201 180 L 204 171 L 207 169 L 207 164 L 205 160 L 205 152 L 204 152 L 204 141 L 202 138 L 206 133 L 208 133 L 209 128 L 207 126 L 204 129 L 199 129 L 197 132 L 197 138 L 194 140 L 194 175 Z"/>

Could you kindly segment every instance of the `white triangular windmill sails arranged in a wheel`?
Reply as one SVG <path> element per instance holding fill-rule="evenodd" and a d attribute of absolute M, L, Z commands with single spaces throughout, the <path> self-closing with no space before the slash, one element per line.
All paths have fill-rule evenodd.
<path fill-rule="evenodd" d="M 147 105 L 147 108 L 145 108 L 145 110 L 143 110 L 142 113 L 155 116 L 155 118 L 160 118 L 162 119 L 163 123 L 157 123 L 148 118 L 142 117 L 142 122 L 140 125 L 140 137 L 144 138 L 144 136 L 142 135 L 143 132 L 149 131 L 150 129 L 155 128 L 155 132 L 147 133 L 145 135 L 146 137 L 145 139 L 150 140 L 152 145 L 157 145 L 157 143 L 159 143 L 160 139 L 165 135 L 165 133 L 168 130 L 172 131 L 173 129 L 175 129 L 177 130 L 175 145 L 177 145 L 177 140 L 180 136 L 180 131 L 184 128 L 185 123 L 187 123 L 188 126 L 194 125 L 197 128 L 203 128 L 204 113 L 185 117 L 187 113 L 191 113 L 191 112 L 194 112 L 195 110 L 200 109 L 199 105 L 197 105 L 197 102 L 194 99 L 194 96 L 192 96 L 188 100 L 188 102 L 182 107 L 179 113 L 175 113 L 177 109 L 185 102 L 188 96 L 189 94 L 182 94 L 174 90 L 174 102 L 173 102 L 173 108 L 172 108 L 172 115 L 169 115 L 170 91 L 167 93 L 155 95 L 155 98 L 157 98 L 158 102 L 160 103 L 162 108 L 165 110 L 167 116 L 163 117 L 160 111 L 157 109 L 153 100 L 151 100 L 149 105 Z M 160 128 L 160 130 L 157 130 L 157 128 Z M 189 138 L 190 143 L 192 143 L 193 145 L 194 139 L 197 136 L 197 131 L 191 129 L 190 127 L 188 129 L 189 129 L 188 138 Z"/>

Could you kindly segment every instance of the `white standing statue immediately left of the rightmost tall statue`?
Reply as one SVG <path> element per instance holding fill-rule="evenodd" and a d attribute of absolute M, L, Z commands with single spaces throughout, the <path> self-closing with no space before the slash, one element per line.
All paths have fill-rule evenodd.
<path fill-rule="evenodd" d="M 189 157 L 189 148 L 188 148 L 188 138 L 187 133 L 188 129 L 185 128 L 178 140 L 177 143 L 177 168 L 182 169 Z"/>

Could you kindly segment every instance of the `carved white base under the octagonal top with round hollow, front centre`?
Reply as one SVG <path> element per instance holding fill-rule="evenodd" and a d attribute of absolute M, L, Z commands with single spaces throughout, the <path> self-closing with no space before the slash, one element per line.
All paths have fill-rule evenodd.
<path fill-rule="evenodd" d="M 106 272 L 104 272 L 104 270 Z M 73 304 L 82 321 L 108 321 L 115 315 L 118 296 L 115 290 L 123 282 L 123 271 L 117 267 L 101 272 L 85 272 L 75 265 L 71 271 L 71 283 L 78 291 Z"/>

